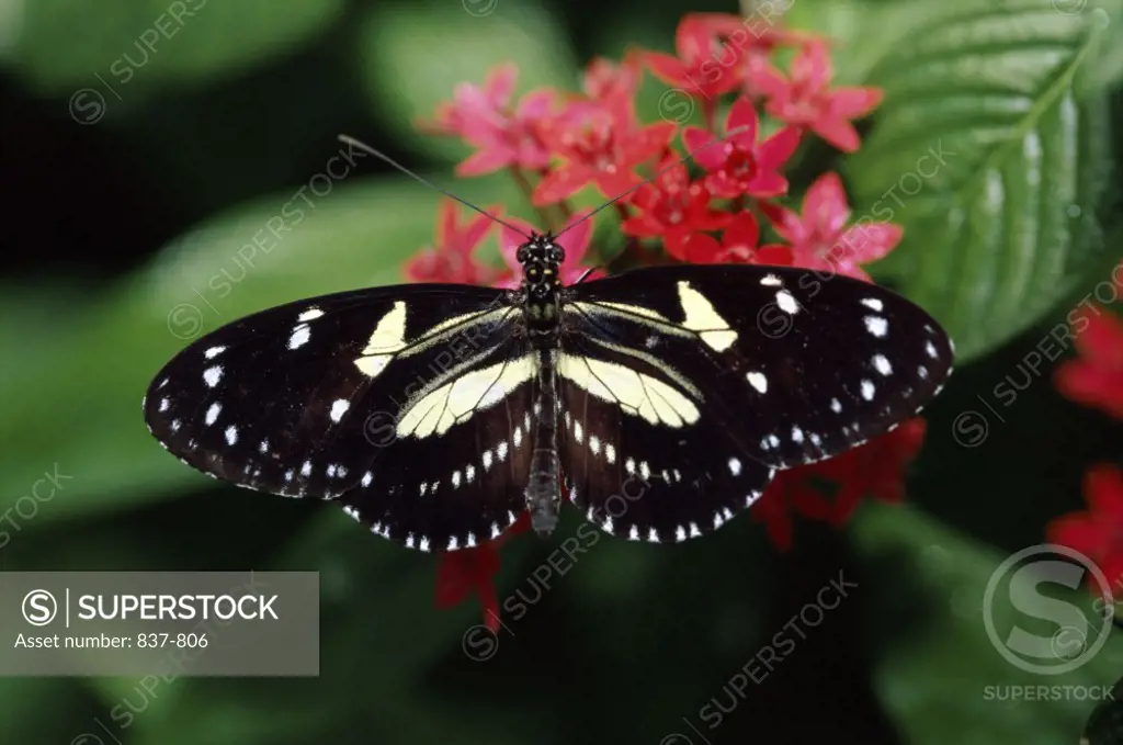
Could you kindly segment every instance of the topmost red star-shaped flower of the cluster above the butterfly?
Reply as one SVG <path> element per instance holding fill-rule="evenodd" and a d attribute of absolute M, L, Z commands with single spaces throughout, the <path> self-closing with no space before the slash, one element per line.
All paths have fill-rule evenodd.
<path fill-rule="evenodd" d="M 647 52 L 643 61 L 651 73 L 688 96 L 707 101 L 728 93 L 741 83 L 745 48 L 723 43 L 712 13 L 686 15 L 675 31 L 677 57 Z"/>

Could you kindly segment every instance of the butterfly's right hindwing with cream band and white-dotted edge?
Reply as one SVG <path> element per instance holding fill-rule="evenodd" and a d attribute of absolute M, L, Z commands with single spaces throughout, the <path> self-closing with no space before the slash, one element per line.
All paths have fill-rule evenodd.
<path fill-rule="evenodd" d="M 603 530 L 651 543 L 697 537 L 772 480 L 659 357 L 578 333 L 563 342 L 558 371 L 565 491 Z"/>

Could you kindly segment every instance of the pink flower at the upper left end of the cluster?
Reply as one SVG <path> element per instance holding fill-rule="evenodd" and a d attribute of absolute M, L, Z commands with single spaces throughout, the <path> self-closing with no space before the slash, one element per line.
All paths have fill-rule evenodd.
<path fill-rule="evenodd" d="M 482 175 L 511 165 L 535 171 L 549 165 L 550 155 L 537 128 L 550 116 L 554 93 L 532 91 L 511 110 L 518 73 L 513 64 L 504 64 L 487 74 L 483 88 L 460 83 L 453 103 L 437 107 L 436 121 L 422 124 L 430 131 L 457 135 L 480 148 L 456 166 L 459 175 Z"/>

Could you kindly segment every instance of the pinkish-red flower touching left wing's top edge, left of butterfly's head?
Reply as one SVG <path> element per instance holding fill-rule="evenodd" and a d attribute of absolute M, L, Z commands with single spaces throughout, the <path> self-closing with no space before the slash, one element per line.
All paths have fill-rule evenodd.
<path fill-rule="evenodd" d="M 495 281 L 497 272 L 484 264 L 477 264 L 472 257 L 473 252 L 487 236 L 494 220 L 486 215 L 478 215 L 467 225 L 457 225 L 456 209 L 454 200 L 441 201 L 433 246 L 421 249 L 421 253 L 405 263 L 405 276 L 411 282 L 491 284 Z M 502 210 L 500 207 L 486 209 L 493 215 L 499 215 Z"/>

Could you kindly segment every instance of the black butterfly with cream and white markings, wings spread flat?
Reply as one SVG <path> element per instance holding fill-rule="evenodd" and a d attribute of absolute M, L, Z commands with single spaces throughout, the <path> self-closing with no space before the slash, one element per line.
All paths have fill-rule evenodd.
<path fill-rule="evenodd" d="M 722 526 L 776 469 L 893 429 L 951 372 L 923 310 L 844 276 L 642 269 L 564 287 L 549 235 L 519 290 L 412 284 L 258 312 L 150 385 L 152 433 L 189 465 L 335 500 L 408 547 L 497 537 L 564 494 L 610 534 Z"/>

